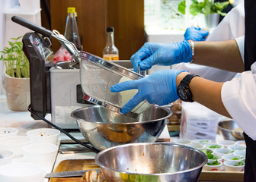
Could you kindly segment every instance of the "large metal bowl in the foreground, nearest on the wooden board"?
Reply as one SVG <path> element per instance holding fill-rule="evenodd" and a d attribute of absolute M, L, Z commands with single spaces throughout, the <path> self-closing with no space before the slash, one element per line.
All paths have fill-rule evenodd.
<path fill-rule="evenodd" d="M 207 156 L 172 143 L 132 143 L 99 152 L 96 163 L 107 181 L 197 181 Z"/>

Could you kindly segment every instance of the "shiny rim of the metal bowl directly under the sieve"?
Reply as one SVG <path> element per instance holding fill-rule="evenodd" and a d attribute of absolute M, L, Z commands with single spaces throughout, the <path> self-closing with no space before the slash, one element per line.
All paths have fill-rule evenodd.
<path fill-rule="evenodd" d="M 164 107 L 161 107 L 161 106 L 152 106 L 154 108 L 162 108 L 163 110 L 167 111 L 169 114 L 163 118 L 158 118 L 158 119 L 155 119 L 155 120 L 151 120 L 151 121 L 138 121 L 138 122 L 126 122 L 126 123 L 102 123 L 102 122 L 99 122 L 99 121 L 95 121 L 93 122 L 94 124 L 145 124 L 145 123 L 151 123 L 151 122 L 158 122 L 158 121 L 162 121 L 164 119 L 167 119 L 169 118 L 171 115 L 172 115 L 172 111 L 168 110 L 168 108 L 164 108 Z M 84 119 L 81 119 L 81 118 L 77 118 L 75 117 L 74 113 L 77 112 L 77 111 L 80 111 L 80 110 L 83 110 L 83 109 L 86 109 L 86 108 L 101 108 L 100 105 L 93 105 L 93 106 L 89 106 L 89 107 L 83 107 L 83 108 L 78 108 L 78 109 L 75 109 L 75 111 L 72 111 L 72 113 L 70 114 L 72 118 L 75 118 L 76 121 L 85 121 L 85 122 L 90 122 L 90 121 L 86 121 Z M 104 108 L 104 107 L 103 107 Z M 107 109 L 107 108 L 105 108 Z M 110 109 L 107 109 L 107 110 L 110 110 Z M 113 111 L 113 110 L 110 110 L 110 111 Z M 118 113 L 119 114 L 119 113 Z"/>

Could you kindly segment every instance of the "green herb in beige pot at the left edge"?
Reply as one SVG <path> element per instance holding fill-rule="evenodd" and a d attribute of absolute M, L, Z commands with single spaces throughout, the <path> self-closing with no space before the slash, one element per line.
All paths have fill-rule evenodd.
<path fill-rule="evenodd" d="M 1 51 L 0 60 L 5 64 L 2 82 L 8 107 L 14 111 L 27 111 L 30 104 L 30 69 L 20 39 L 12 38 L 8 41 L 9 47 Z"/>

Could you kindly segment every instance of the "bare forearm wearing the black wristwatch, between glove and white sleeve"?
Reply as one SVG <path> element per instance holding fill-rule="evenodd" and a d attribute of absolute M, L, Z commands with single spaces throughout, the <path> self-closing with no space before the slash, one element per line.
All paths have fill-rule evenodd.
<path fill-rule="evenodd" d="M 189 73 L 181 72 L 176 77 L 176 86 L 181 82 L 181 80 Z M 191 90 L 193 100 L 198 102 L 207 108 L 216 111 L 220 115 L 230 117 L 229 112 L 226 111 L 221 99 L 221 89 L 223 83 L 214 82 L 211 80 L 206 80 L 202 77 L 194 77 L 189 88 Z"/>

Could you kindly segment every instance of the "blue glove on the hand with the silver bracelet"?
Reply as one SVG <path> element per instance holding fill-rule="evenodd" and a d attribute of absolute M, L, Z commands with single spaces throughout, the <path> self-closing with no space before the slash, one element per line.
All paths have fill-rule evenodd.
<path fill-rule="evenodd" d="M 146 42 L 132 57 L 133 69 L 137 72 L 138 66 L 142 71 L 153 65 L 170 66 L 181 62 L 190 62 L 192 52 L 187 40 L 175 43 Z"/>

